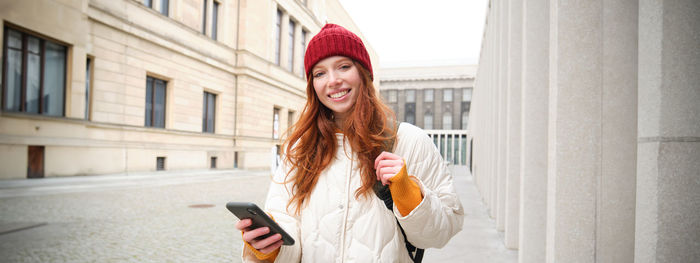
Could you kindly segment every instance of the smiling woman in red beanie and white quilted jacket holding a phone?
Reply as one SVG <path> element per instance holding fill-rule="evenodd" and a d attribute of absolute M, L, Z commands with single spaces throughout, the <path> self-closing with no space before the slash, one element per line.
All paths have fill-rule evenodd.
<path fill-rule="evenodd" d="M 416 247 L 444 246 L 463 222 L 452 176 L 423 130 L 395 127 L 360 38 L 327 24 L 304 66 L 308 100 L 265 203 L 297 242 L 257 240 L 269 230 L 241 220 L 244 261 L 412 262 L 399 223 Z M 377 180 L 389 185 L 393 211 L 375 195 Z"/>

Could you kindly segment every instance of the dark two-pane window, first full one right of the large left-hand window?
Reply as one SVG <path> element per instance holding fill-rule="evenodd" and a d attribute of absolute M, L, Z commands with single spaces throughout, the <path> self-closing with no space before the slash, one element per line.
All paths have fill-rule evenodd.
<path fill-rule="evenodd" d="M 146 126 L 165 128 L 165 80 L 146 78 Z"/>

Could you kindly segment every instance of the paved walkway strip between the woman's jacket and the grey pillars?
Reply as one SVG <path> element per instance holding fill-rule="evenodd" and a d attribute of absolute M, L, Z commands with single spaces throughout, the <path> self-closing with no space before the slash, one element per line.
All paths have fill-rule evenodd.
<path fill-rule="evenodd" d="M 518 251 L 506 249 L 503 232 L 489 217 L 466 166 L 455 166 L 455 188 L 464 206 L 464 227 L 442 249 L 428 249 L 423 262 L 518 262 Z"/>

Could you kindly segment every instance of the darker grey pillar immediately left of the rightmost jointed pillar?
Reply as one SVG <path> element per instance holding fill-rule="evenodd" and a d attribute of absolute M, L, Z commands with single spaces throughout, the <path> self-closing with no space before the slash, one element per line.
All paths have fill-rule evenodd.
<path fill-rule="evenodd" d="M 637 0 L 603 12 L 601 176 L 596 262 L 633 262 L 637 164 Z"/>

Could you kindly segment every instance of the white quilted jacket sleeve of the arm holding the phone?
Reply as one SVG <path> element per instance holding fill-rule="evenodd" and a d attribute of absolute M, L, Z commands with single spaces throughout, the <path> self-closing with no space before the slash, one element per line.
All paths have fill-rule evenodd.
<path fill-rule="evenodd" d="M 275 221 L 294 238 L 294 245 L 282 246 L 275 262 L 300 262 L 301 261 L 301 234 L 299 231 L 299 218 L 294 216 L 293 206 L 287 211 L 287 202 L 291 197 L 292 183 L 285 184 L 287 175 L 286 166 L 280 165 L 270 183 L 270 190 L 265 201 L 265 211 L 272 214 Z M 258 260 L 252 251 L 243 248 L 241 255 L 243 262 L 264 262 Z"/>

